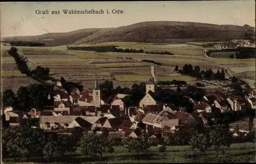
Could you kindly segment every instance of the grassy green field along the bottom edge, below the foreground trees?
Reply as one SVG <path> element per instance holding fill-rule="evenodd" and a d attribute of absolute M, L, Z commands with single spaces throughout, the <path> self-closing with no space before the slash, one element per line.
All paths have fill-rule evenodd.
<path fill-rule="evenodd" d="M 127 152 L 122 146 L 114 147 L 115 153 L 104 153 L 101 162 L 94 157 L 79 156 L 75 153 L 69 153 L 58 162 L 52 163 L 184 163 L 184 162 L 252 162 L 255 161 L 255 143 L 232 144 L 226 149 L 225 155 L 220 153 L 219 157 L 215 157 L 215 151 L 209 149 L 206 156 L 200 156 L 198 159 L 188 159 L 185 153 L 188 152 L 189 146 L 167 146 L 166 155 L 158 152 L 158 147 L 151 147 L 147 152 L 139 153 Z M 24 159 L 25 160 L 25 159 Z M 24 160 L 13 162 L 12 159 L 4 159 L 4 163 L 27 163 Z M 42 159 L 31 159 L 29 163 L 46 163 Z M 49 163 L 49 162 L 47 162 Z"/>

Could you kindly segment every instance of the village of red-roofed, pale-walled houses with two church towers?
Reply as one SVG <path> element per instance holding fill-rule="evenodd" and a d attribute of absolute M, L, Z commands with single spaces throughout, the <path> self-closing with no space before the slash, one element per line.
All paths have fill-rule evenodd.
<path fill-rule="evenodd" d="M 154 71 L 153 71 L 154 72 Z M 117 140 L 127 137 L 143 135 L 148 139 L 156 139 L 159 136 L 180 135 L 182 130 L 193 129 L 196 122 L 206 124 L 209 120 L 215 120 L 215 111 L 241 111 L 243 109 L 255 109 L 255 91 L 246 89 L 244 97 L 234 96 L 227 92 L 216 93 L 214 90 L 207 91 L 202 101 L 196 101 L 185 96 L 183 99 L 193 104 L 193 112 L 185 112 L 184 108 L 172 103 L 162 103 L 156 100 L 157 89 L 154 74 L 145 82 L 145 93 L 137 106 L 126 106 L 124 99 L 130 95 L 121 93 L 105 97 L 99 88 L 97 77 L 93 89 L 71 88 L 70 94 L 65 89 L 50 92 L 48 100 L 52 106 L 45 106 L 44 110 L 33 109 L 29 112 L 16 111 L 13 107 L 3 107 L 1 111 L 5 115 L 8 126 L 27 124 L 29 119 L 35 118 L 34 124 L 46 132 L 71 134 L 75 127 L 84 131 L 108 130 L 109 134 Z M 61 80 L 56 82 L 56 88 L 62 88 Z M 2 117 L 3 119 L 3 117 Z M 230 127 L 233 137 L 246 136 L 253 131 L 249 128 Z M 193 132 L 193 131 L 191 131 Z"/>

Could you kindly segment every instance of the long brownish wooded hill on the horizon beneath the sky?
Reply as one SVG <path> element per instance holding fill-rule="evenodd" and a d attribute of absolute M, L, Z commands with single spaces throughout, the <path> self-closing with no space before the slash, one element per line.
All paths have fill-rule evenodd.
<path fill-rule="evenodd" d="M 101 42 L 185 43 L 191 41 L 224 41 L 244 37 L 253 27 L 214 25 L 198 22 L 147 21 L 130 26 L 104 29 L 81 29 L 67 33 L 38 36 L 6 37 L 3 41 L 37 41 L 46 46 Z M 255 34 L 254 34 L 255 35 Z"/>

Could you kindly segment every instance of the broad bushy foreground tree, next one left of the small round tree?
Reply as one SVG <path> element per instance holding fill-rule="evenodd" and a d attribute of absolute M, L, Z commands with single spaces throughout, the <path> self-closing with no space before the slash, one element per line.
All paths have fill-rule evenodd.
<path fill-rule="evenodd" d="M 80 154 L 96 157 L 99 161 L 103 152 L 113 153 L 113 139 L 97 133 L 88 133 L 80 139 Z"/>

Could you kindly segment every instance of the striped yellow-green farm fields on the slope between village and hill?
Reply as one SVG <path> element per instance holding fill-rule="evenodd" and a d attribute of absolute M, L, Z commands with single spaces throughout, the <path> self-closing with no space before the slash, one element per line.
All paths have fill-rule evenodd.
<path fill-rule="evenodd" d="M 89 46 L 89 44 L 78 45 Z M 255 59 L 206 58 L 203 55 L 204 49 L 198 45 L 156 45 L 135 42 L 108 42 L 94 45 L 116 45 L 119 48 L 143 49 L 144 51 L 153 52 L 168 51 L 175 55 L 74 51 L 67 50 L 67 45 L 55 47 L 17 46 L 17 48 L 34 64 L 49 67 L 50 74 L 56 79 L 62 76 L 67 80 L 80 82 L 86 88 L 93 87 L 95 75 L 97 75 L 99 82 L 113 80 L 114 87 L 131 87 L 134 83 L 147 81 L 151 78 L 152 63 L 142 62 L 143 59 L 154 60 L 162 64 L 155 65 L 157 80 L 194 81 L 193 78 L 181 76 L 174 71 L 176 65 L 181 68 L 185 63 L 190 63 L 193 66 L 199 65 L 201 69 L 212 68 L 214 72 L 224 66 L 229 69 L 230 73 L 240 74 L 240 77 L 244 76 L 248 79 L 253 78 L 251 71 L 255 72 Z M 34 80 L 28 80 L 28 77 L 18 72 L 14 59 L 6 52 L 10 48 L 11 46 L 8 44 L 1 48 L 3 89 L 15 89 L 16 85 L 34 83 Z M 10 82 L 10 79 L 12 82 Z"/>

